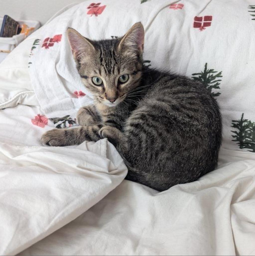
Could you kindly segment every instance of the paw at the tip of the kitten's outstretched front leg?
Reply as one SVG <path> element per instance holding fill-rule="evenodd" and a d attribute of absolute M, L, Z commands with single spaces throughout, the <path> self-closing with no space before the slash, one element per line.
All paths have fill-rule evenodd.
<path fill-rule="evenodd" d="M 42 135 L 41 141 L 47 146 L 65 146 L 65 131 L 64 129 L 53 129 L 47 131 Z"/>

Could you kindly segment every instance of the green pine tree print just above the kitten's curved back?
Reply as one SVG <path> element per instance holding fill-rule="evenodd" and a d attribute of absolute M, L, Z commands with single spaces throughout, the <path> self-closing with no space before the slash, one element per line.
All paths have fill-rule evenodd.
<path fill-rule="evenodd" d="M 204 65 L 204 71 L 201 71 L 200 73 L 194 73 L 192 74 L 192 78 L 195 81 L 201 82 L 205 88 L 212 93 L 213 97 L 219 96 L 220 92 L 212 92 L 212 89 L 220 89 L 220 81 L 221 79 L 218 79 L 222 77 L 221 72 L 214 71 L 214 69 L 207 69 L 207 63 Z M 215 74 L 216 73 L 216 74 Z"/>

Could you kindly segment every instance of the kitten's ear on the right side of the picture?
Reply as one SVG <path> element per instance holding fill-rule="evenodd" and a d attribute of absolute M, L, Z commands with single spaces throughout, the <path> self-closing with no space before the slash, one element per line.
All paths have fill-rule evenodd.
<path fill-rule="evenodd" d="M 144 28 L 141 22 L 134 24 L 121 39 L 119 49 L 126 48 L 128 50 L 143 52 L 144 44 Z"/>

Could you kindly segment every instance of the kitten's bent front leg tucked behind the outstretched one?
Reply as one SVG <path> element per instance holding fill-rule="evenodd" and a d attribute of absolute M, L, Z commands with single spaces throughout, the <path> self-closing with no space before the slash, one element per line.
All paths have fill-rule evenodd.
<path fill-rule="evenodd" d="M 93 106 L 84 106 L 77 112 L 77 121 L 81 126 L 91 126 L 100 123 L 100 118 Z"/>

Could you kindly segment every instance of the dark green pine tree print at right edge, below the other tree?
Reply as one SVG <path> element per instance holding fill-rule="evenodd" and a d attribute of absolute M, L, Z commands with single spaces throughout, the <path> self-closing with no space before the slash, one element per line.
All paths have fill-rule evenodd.
<path fill-rule="evenodd" d="M 244 113 L 242 113 L 240 120 L 232 120 L 231 127 L 236 128 L 238 131 L 231 131 L 235 135 L 231 135 L 238 141 L 239 148 L 246 148 L 250 152 L 255 152 L 255 122 L 244 119 Z"/>

